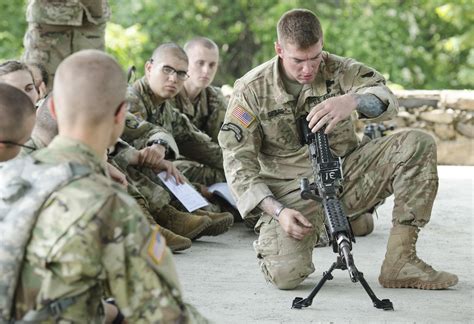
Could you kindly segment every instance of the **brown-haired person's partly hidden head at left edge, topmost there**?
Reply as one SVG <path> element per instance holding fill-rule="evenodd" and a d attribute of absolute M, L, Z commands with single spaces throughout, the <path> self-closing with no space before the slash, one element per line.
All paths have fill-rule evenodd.
<path fill-rule="evenodd" d="M 8 83 L 25 92 L 36 104 L 38 91 L 28 66 L 20 61 L 10 60 L 0 64 L 0 81 Z"/>

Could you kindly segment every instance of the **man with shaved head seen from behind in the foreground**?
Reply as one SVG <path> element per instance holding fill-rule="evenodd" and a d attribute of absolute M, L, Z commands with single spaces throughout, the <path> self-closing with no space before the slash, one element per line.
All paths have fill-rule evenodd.
<path fill-rule="evenodd" d="M 102 322 L 102 298 L 110 296 L 130 323 L 206 322 L 183 302 L 158 229 L 107 177 L 103 156 L 123 130 L 125 91 L 124 72 L 100 51 L 73 54 L 57 70 L 50 107 L 59 135 L 33 157 L 44 164 L 74 162 L 92 173 L 43 204 L 16 291 L 16 319 L 46 314 L 48 320 Z"/>

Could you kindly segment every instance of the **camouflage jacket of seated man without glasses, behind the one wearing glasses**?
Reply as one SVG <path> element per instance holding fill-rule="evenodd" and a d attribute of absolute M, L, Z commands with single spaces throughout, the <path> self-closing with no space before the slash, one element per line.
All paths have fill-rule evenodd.
<path fill-rule="evenodd" d="M 217 135 L 224 122 L 227 101 L 218 87 L 209 86 L 201 91 L 196 102 L 186 95 L 185 89 L 172 99 L 173 105 L 185 114 L 200 131 L 217 143 Z"/>

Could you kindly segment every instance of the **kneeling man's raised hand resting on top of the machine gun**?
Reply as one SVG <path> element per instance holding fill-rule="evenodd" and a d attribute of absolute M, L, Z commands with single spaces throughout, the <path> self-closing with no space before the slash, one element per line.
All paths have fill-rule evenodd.
<path fill-rule="evenodd" d="M 332 97 L 314 106 L 306 120 L 313 133 L 326 125 L 325 133 L 329 134 L 338 122 L 350 116 L 356 108 L 357 99 L 352 94 Z"/>

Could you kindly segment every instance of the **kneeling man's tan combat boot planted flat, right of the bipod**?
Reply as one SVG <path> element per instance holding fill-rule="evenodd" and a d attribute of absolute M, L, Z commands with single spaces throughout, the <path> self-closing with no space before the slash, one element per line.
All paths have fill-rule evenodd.
<path fill-rule="evenodd" d="M 452 273 L 436 271 L 416 256 L 419 229 L 395 225 L 388 238 L 379 282 L 385 288 L 446 289 L 458 282 Z"/>

